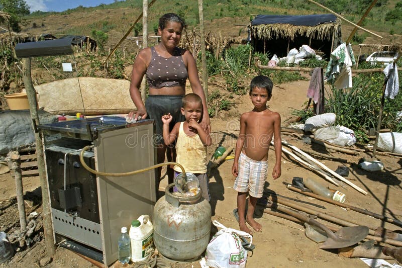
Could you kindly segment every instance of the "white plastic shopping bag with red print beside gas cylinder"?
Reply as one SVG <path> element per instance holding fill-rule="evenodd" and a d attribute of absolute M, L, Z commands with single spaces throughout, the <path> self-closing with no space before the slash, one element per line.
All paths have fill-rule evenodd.
<path fill-rule="evenodd" d="M 250 244 L 253 237 L 246 232 L 226 228 L 218 221 L 213 221 L 213 224 L 222 229 L 212 237 L 207 246 L 205 253 L 207 264 L 215 268 L 246 267 L 247 251 L 242 246 L 239 235 L 249 238 Z"/>

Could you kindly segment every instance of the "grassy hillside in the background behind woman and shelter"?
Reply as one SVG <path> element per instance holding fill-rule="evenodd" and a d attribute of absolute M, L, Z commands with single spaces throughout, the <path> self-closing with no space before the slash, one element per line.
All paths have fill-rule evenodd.
<path fill-rule="evenodd" d="M 324 0 L 320 1 L 320 3 L 356 23 L 371 4 L 371 1 Z M 398 0 L 379 0 L 377 5 L 371 10 L 363 23 L 363 27 L 371 31 L 386 33 L 390 36 L 386 40 L 382 40 L 382 42 L 380 40 L 370 40 L 370 42 L 393 43 L 395 40 L 398 40 L 398 35 L 402 34 L 402 21 L 385 21 L 386 14 L 394 10 L 397 3 L 402 2 L 400 0 L 399 2 Z M 142 1 L 139 0 L 119 1 L 110 5 L 102 4 L 94 8 L 80 6 L 60 13 L 35 12 L 26 18 L 28 24 L 23 31 L 34 34 L 51 33 L 54 35 L 73 34 L 91 36 L 91 31 L 95 29 L 106 33 L 109 36 L 108 45 L 113 46 L 116 43 L 116 39 L 120 39 L 123 36 L 141 12 Z M 158 18 L 169 12 L 175 12 L 182 16 L 189 29 L 196 27 L 198 24 L 197 1 L 156 1 L 149 9 L 150 34 L 157 29 Z M 246 36 L 247 31 L 245 26 L 257 14 L 309 15 L 321 13 L 328 12 L 305 0 L 204 1 L 204 17 L 207 31 L 220 31 L 229 37 Z M 33 26 L 43 27 L 33 28 Z M 345 23 L 342 23 L 342 26 L 349 28 Z M 134 30 L 141 35 L 141 23 Z M 136 35 L 135 31 L 132 33 L 133 36 Z M 362 31 L 358 31 L 357 35 L 358 42 L 364 42 L 369 37 L 369 34 Z M 345 31 L 344 36 L 346 36 Z M 344 39 L 346 38 L 347 36 L 344 37 Z"/>

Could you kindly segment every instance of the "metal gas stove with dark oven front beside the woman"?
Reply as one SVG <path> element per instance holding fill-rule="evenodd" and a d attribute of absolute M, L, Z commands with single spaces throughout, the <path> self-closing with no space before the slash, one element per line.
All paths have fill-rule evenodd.
<path fill-rule="evenodd" d="M 110 265 L 118 259 L 121 227 L 150 215 L 157 199 L 156 170 L 130 176 L 96 176 L 82 167 L 121 173 L 156 163 L 153 120 L 127 124 L 122 117 L 96 117 L 39 125 L 55 242 Z M 70 241 L 70 242 L 68 242 Z"/>

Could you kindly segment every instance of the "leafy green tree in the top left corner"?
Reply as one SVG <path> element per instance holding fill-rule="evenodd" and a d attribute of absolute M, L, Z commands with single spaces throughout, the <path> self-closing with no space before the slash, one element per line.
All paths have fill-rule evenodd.
<path fill-rule="evenodd" d="M 14 32 L 21 32 L 20 23 L 23 17 L 29 15 L 29 6 L 25 0 L 0 0 L 0 9 L 10 14 L 10 27 Z"/>

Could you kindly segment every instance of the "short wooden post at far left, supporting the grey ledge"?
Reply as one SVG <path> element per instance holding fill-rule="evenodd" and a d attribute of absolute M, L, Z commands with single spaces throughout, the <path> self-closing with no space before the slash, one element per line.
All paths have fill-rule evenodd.
<path fill-rule="evenodd" d="M 18 204 L 18 214 L 20 216 L 20 230 L 24 232 L 27 228 L 27 218 L 25 216 L 24 188 L 22 185 L 21 158 L 18 151 L 9 152 L 7 155 L 9 168 L 14 171 L 16 180 L 16 195 Z"/>

